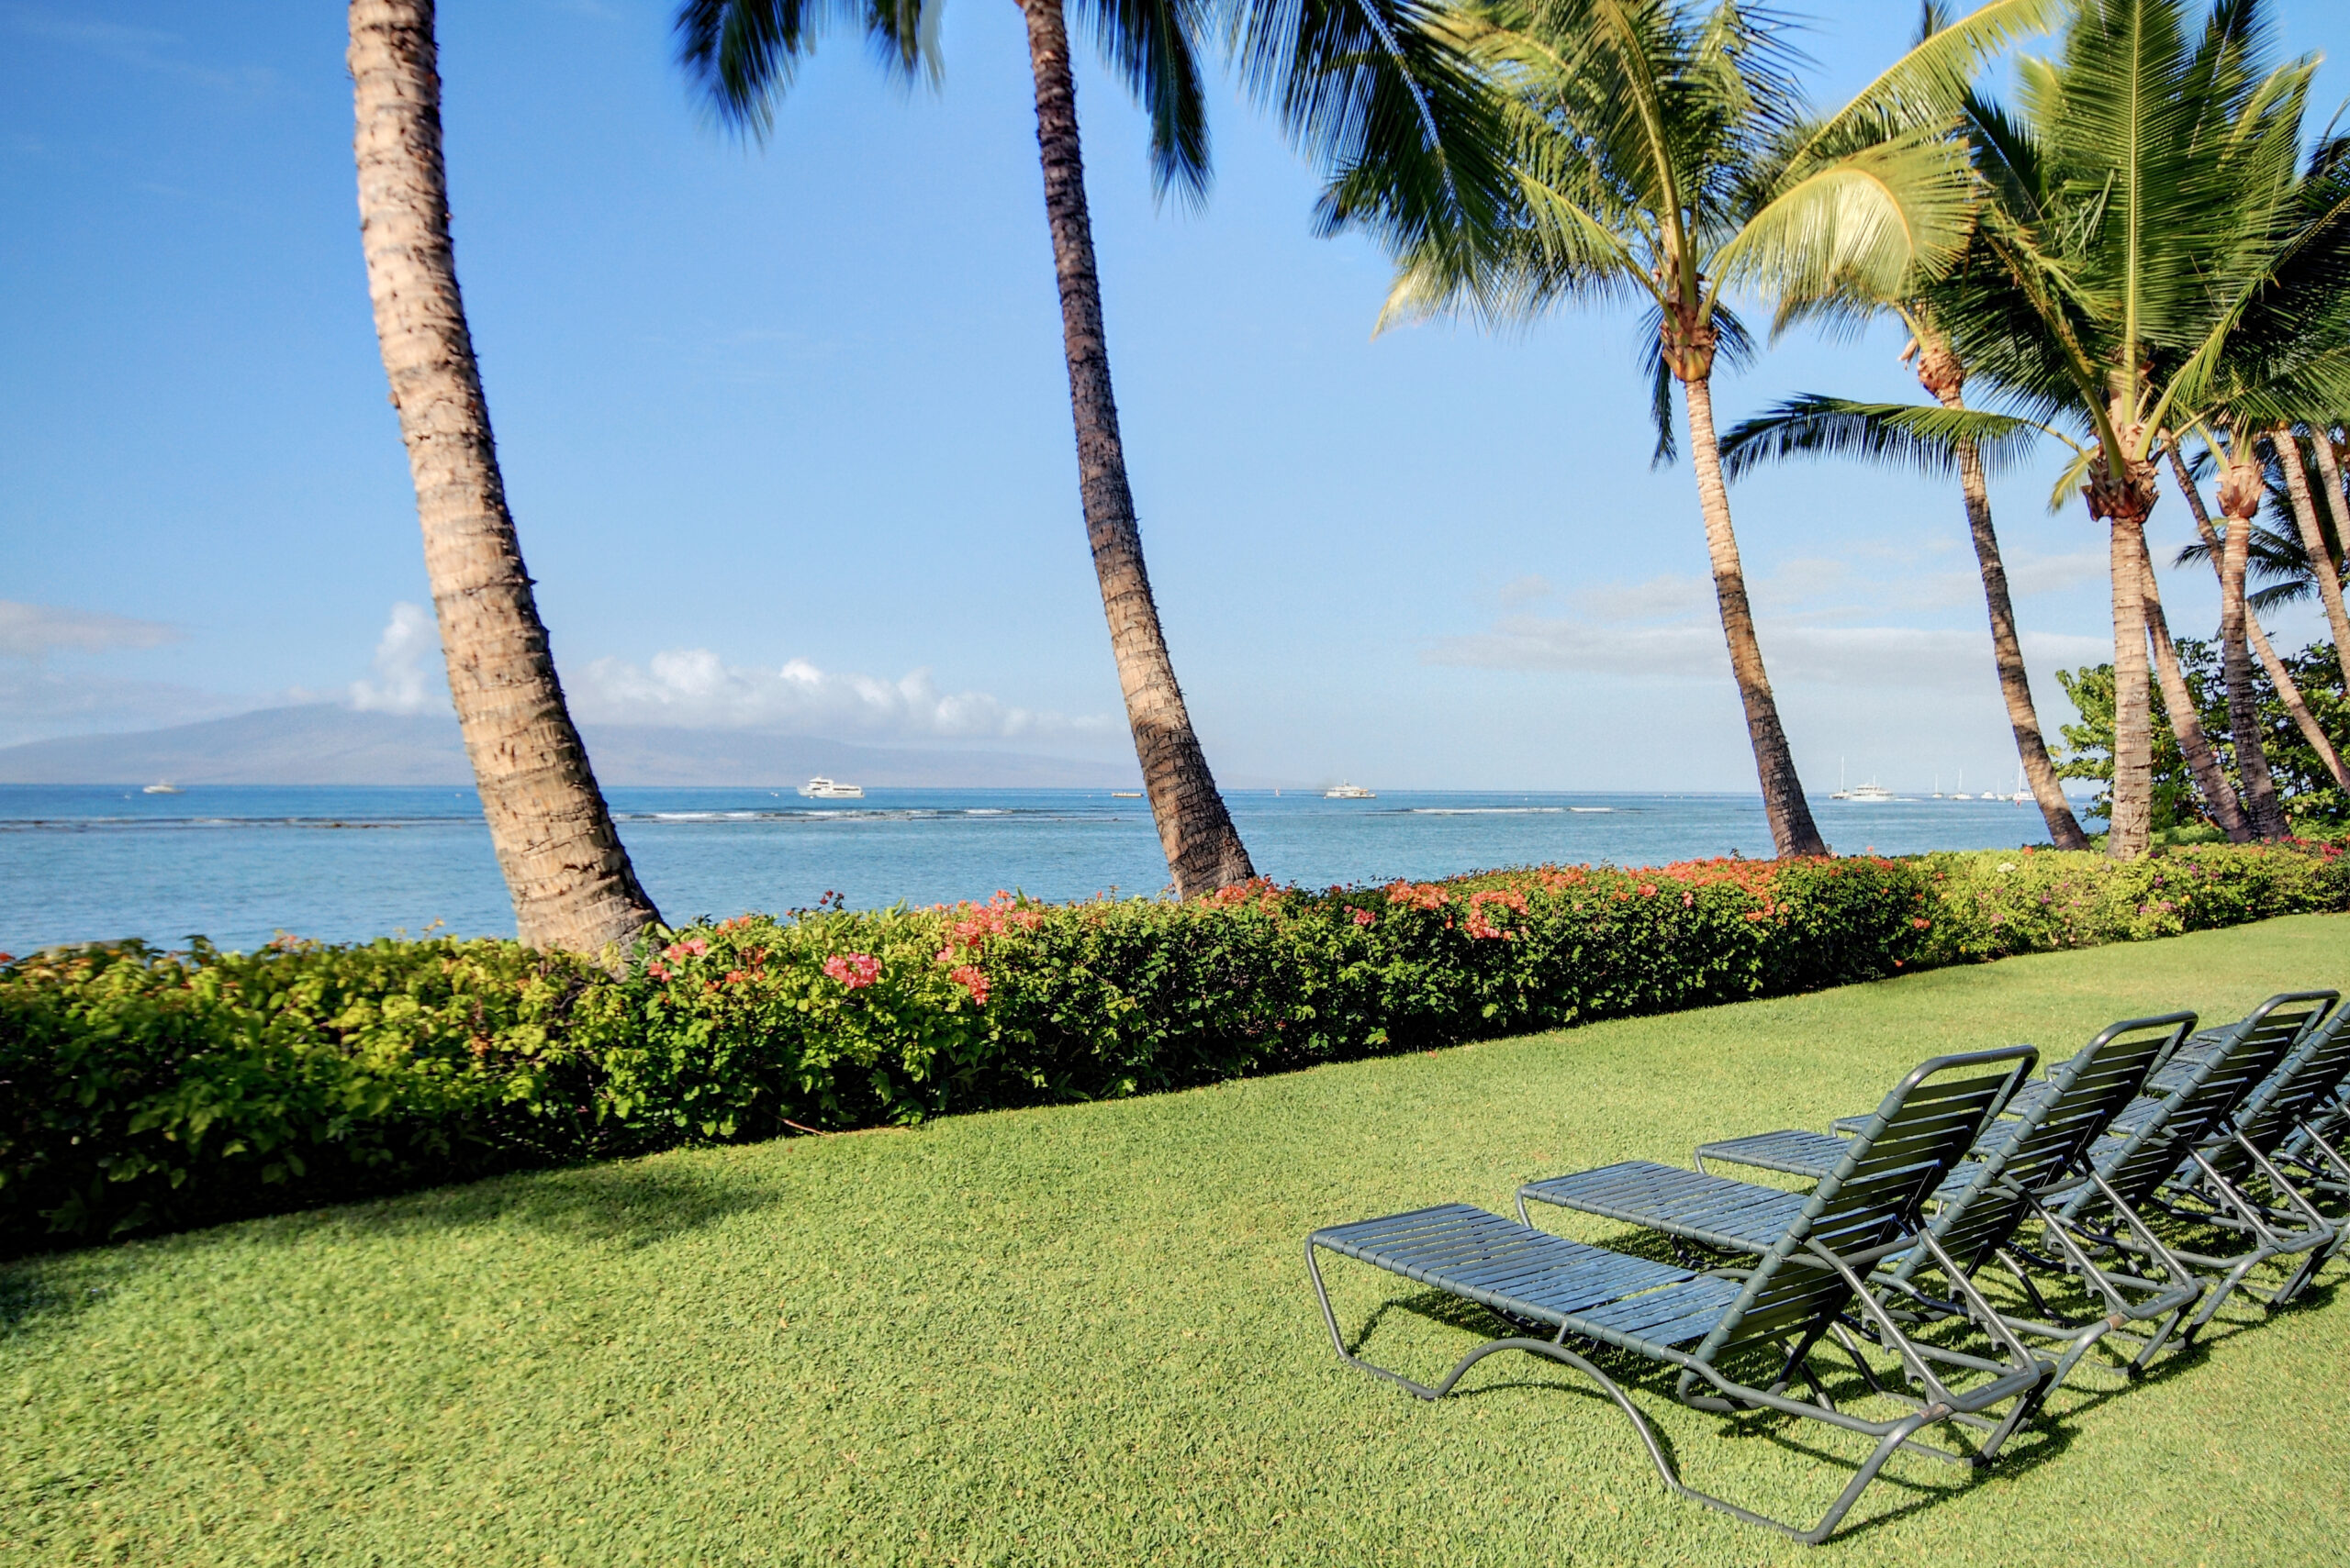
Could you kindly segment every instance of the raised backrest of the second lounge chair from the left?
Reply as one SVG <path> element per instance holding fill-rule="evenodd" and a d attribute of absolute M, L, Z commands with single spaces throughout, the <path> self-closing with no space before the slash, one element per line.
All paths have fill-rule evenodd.
<path fill-rule="evenodd" d="M 2075 1169 L 2122 1106 L 2136 1099 L 2155 1063 L 2193 1033 L 2193 1012 L 2124 1019 L 2052 1066 L 2049 1099 L 2037 1101 L 2040 1110 L 2023 1113 L 2005 1153 L 1972 1162 L 1965 1185 L 1943 1192 L 1934 1239 L 1960 1268 L 1981 1265 L 2009 1242 L 2030 1199 Z"/>

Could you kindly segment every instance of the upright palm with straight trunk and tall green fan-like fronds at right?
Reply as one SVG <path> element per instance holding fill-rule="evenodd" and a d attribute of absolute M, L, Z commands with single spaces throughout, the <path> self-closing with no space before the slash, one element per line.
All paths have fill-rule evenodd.
<path fill-rule="evenodd" d="M 1967 120 L 1995 286 L 1950 331 L 2005 399 L 2087 437 L 2059 493 L 2084 481 L 2110 540 L 2117 859 L 2148 850 L 2148 643 L 2169 655 L 2146 554 L 2153 458 L 2171 418 L 2209 406 L 2294 190 L 2312 66 L 2258 73 L 2256 31 L 2249 0 L 2223 0 L 2200 42 L 2178 0 L 2084 0 L 2059 59 L 2021 61 L 2021 115 L 1972 103 Z M 2162 664 L 2167 709 L 2193 714 L 2176 657 Z M 2200 742 L 2200 723 L 2178 735 Z M 2209 746 L 2193 751 L 2221 815 L 2232 791 Z"/>

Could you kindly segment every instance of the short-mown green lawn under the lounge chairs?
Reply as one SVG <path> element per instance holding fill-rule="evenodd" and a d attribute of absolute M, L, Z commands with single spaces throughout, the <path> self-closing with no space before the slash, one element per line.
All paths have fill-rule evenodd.
<path fill-rule="evenodd" d="M 2350 920 L 2305 915 L 26 1261 L 0 1561 L 1800 1561 L 1668 1498 L 1563 1368 L 1490 1359 L 1429 1406 L 1342 1366 L 1307 1230 L 1817 1127 L 1939 1049 L 2343 979 Z M 2345 1275 L 2068 1387 L 1990 1474 L 1896 1460 L 1812 1561 L 2341 1561 Z M 1349 1331 L 1426 1305 L 1332 1286 Z M 1391 1310 L 1377 1354 L 1441 1371 L 1466 1322 Z M 1864 1453 L 1636 1397 L 1694 1486 L 1779 1514 Z"/>

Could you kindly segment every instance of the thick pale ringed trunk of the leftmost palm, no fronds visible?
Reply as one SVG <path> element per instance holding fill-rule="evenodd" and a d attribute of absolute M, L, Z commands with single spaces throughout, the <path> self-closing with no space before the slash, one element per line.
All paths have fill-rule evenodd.
<path fill-rule="evenodd" d="M 449 246 L 432 0 L 352 0 L 350 80 L 367 293 L 489 840 L 522 941 L 611 960 L 660 915 L 571 725 L 505 509 Z"/>

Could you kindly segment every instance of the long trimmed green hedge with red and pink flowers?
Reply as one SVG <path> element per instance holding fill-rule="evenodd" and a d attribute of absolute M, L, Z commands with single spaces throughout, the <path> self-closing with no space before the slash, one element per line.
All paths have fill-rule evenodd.
<path fill-rule="evenodd" d="M 510 941 L 75 948 L 0 962 L 0 1249 L 2338 908 L 2338 845 L 2221 845 L 818 908 L 658 932 L 620 976 Z"/>

